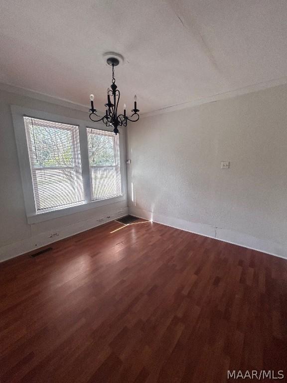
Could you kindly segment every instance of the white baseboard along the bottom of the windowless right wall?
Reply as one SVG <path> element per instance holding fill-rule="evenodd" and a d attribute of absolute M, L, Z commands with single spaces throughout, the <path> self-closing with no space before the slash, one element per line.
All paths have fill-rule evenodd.
<path fill-rule="evenodd" d="M 153 213 L 148 210 L 139 209 L 134 206 L 129 207 L 129 213 L 140 218 L 149 219 L 153 222 L 174 227 L 176 229 L 204 235 L 206 237 L 218 239 L 223 242 L 233 243 L 248 249 L 261 251 L 287 259 L 287 244 L 256 238 L 252 235 L 234 230 L 222 229 L 208 224 L 190 222 L 184 219 L 168 217 L 166 215 Z"/>

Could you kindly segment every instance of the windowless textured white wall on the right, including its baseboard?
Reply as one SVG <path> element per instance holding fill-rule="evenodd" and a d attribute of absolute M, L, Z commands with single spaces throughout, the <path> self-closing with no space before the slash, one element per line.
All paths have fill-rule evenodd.
<path fill-rule="evenodd" d="M 131 213 L 287 257 L 287 85 L 142 118 L 128 145 Z"/>

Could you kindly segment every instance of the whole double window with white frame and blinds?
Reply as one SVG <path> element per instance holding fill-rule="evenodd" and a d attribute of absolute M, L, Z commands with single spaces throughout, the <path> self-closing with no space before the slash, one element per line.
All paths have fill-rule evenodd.
<path fill-rule="evenodd" d="M 115 136 L 86 120 L 17 105 L 11 112 L 29 224 L 127 201 L 124 129 Z"/>

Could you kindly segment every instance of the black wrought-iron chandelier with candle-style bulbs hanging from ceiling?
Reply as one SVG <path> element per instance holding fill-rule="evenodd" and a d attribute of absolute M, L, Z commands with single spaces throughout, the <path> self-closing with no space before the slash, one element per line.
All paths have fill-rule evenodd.
<path fill-rule="evenodd" d="M 136 122 L 139 120 L 140 116 L 137 109 L 137 95 L 134 97 L 135 107 L 132 110 L 133 114 L 131 116 L 127 116 L 126 114 L 126 104 L 124 104 L 124 114 L 118 114 L 118 105 L 120 101 L 120 91 L 116 85 L 115 80 L 115 66 L 119 65 L 120 61 L 117 57 L 112 56 L 108 57 L 107 63 L 113 68 L 113 80 L 112 85 L 107 89 L 108 102 L 105 104 L 106 107 L 106 115 L 100 119 L 96 119 L 100 117 L 97 115 L 97 110 L 94 108 L 94 95 L 90 95 L 91 100 L 91 109 L 89 109 L 90 120 L 93 122 L 103 121 L 106 126 L 112 126 L 114 128 L 114 133 L 117 135 L 119 133 L 119 126 L 127 126 L 128 121 Z M 111 88 L 111 89 L 110 89 Z M 111 100 L 112 98 L 112 100 Z"/>

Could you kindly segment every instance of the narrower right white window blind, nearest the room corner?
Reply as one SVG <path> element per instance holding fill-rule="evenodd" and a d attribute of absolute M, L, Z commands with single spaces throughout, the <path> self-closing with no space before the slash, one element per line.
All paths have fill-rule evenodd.
<path fill-rule="evenodd" d="M 121 195 L 119 135 L 87 128 L 92 200 Z"/>

